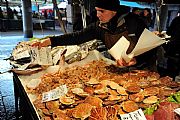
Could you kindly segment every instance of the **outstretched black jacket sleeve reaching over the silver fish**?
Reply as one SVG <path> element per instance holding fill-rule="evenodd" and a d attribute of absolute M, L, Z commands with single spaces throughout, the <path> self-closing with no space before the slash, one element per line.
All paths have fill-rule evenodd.
<path fill-rule="evenodd" d="M 98 39 L 96 24 L 93 23 L 87 28 L 73 33 L 50 37 L 51 46 L 78 45 L 93 39 Z"/>

